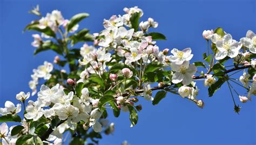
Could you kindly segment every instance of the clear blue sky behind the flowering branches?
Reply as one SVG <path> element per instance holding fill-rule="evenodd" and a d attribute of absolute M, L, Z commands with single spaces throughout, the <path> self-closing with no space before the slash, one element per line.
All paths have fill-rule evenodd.
<path fill-rule="evenodd" d="M 39 4 L 42 13 L 58 9 L 65 18 L 79 12 L 91 14 L 80 28 L 92 33 L 103 30 L 103 19 L 123 14 L 124 7 L 139 6 L 142 20 L 158 21 L 157 32 L 167 41 L 158 41 L 161 49 L 191 47 L 192 61 L 200 61 L 206 52 L 203 30 L 223 27 L 239 40 L 247 30 L 255 28 L 255 1 L 5 1 L 0 0 L 0 106 L 15 100 L 20 91 L 30 91 L 28 82 L 32 69 L 43 61 L 52 62 L 55 53 L 33 56 L 32 33 L 22 33 L 26 24 L 35 19 L 28 11 Z M 256 144 L 256 99 L 242 104 L 240 115 L 234 113 L 230 92 L 225 84 L 212 98 L 207 96 L 203 82 L 198 82 L 204 109 L 179 96 L 168 94 L 157 106 L 141 99 L 143 110 L 137 126 L 130 128 L 129 114 L 119 118 L 110 115 L 116 124 L 114 135 L 103 137 L 100 144 L 120 144 L 127 140 L 136 144 Z M 237 89 L 241 89 L 238 88 Z M 241 92 L 244 94 L 244 92 Z M 237 96 L 235 96 L 237 97 Z M 238 98 L 236 101 L 239 103 Z M 240 103 L 241 104 L 241 103 Z"/>

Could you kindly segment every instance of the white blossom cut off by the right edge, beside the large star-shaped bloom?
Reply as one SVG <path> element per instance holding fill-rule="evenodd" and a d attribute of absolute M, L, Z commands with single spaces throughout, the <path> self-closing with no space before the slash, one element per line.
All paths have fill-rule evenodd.
<path fill-rule="evenodd" d="M 242 42 L 242 45 L 249 48 L 251 53 L 256 53 L 256 35 L 253 31 L 248 30 L 246 37 L 241 38 L 240 41 Z"/>

